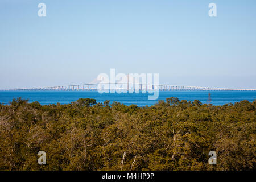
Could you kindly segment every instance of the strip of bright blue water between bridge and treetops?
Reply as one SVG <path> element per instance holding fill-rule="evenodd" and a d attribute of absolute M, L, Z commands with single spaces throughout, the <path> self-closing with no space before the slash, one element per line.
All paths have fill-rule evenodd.
<path fill-rule="evenodd" d="M 179 100 L 194 101 L 199 100 L 203 103 L 207 103 L 208 93 L 211 93 L 213 105 L 224 105 L 227 103 L 235 103 L 242 100 L 248 100 L 250 102 L 256 99 L 255 91 L 163 91 L 159 92 L 158 100 L 166 100 L 168 97 L 177 97 Z M 104 102 L 109 100 L 121 102 L 125 105 L 136 104 L 138 106 L 151 106 L 158 100 L 148 100 L 148 94 L 100 94 L 97 91 L 0 91 L 0 103 L 9 104 L 13 98 L 22 97 L 29 100 L 29 102 L 38 101 L 42 105 L 46 104 L 69 104 L 72 101 L 76 101 L 79 98 L 94 98 L 97 102 Z"/>

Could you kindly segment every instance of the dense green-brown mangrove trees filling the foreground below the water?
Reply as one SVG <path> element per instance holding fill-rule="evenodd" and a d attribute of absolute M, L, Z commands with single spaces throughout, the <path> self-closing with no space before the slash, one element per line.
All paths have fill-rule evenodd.
<path fill-rule="evenodd" d="M 151 107 L 79 99 L 0 104 L 1 170 L 251 170 L 256 100 L 213 106 L 167 98 Z M 46 151 L 47 165 L 38 164 Z M 208 153 L 217 152 L 217 165 Z"/>

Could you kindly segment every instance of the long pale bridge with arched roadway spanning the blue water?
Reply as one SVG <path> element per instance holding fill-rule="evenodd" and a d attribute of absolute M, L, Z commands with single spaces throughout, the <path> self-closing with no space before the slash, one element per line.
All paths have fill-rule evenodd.
<path fill-rule="evenodd" d="M 42 88 L 17 88 L 0 89 L 1 91 L 96 91 L 96 90 L 139 90 L 139 91 L 256 91 L 256 89 L 232 89 L 232 88 L 210 88 L 200 86 L 178 86 L 178 85 L 152 85 L 152 84 L 130 84 L 130 83 L 108 83 L 108 84 L 78 84 L 67 86 L 49 86 Z"/>

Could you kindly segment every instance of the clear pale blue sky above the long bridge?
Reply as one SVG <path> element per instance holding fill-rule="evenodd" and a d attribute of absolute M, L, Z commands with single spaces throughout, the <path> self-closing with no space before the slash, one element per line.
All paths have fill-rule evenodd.
<path fill-rule="evenodd" d="M 110 68 L 256 88 L 256 1 L 1 0 L 0 68 L 0 88 L 83 84 Z"/>

